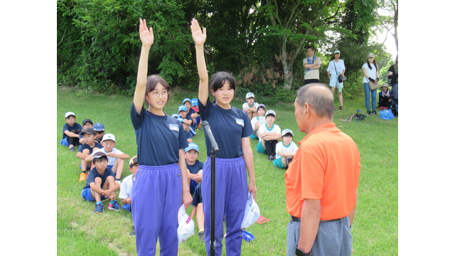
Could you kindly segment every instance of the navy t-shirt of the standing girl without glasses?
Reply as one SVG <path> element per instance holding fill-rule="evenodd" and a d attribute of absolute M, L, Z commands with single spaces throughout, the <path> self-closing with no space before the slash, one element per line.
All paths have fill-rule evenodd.
<path fill-rule="evenodd" d="M 207 98 L 207 106 L 198 99 L 200 118 L 210 124 L 215 142 L 220 151 L 215 155 L 220 159 L 235 159 L 243 155 L 242 138 L 254 134 L 247 112 L 231 107 L 225 110 Z M 207 156 L 210 156 L 212 146 L 205 133 Z"/>

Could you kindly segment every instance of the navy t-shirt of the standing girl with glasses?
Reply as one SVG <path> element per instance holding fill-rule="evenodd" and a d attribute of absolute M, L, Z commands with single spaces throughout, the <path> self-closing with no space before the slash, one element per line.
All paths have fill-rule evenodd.
<path fill-rule="evenodd" d="M 144 107 L 138 114 L 133 103 L 131 120 L 136 130 L 139 165 L 165 166 L 177 163 L 178 150 L 188 147 L 183 125 L 176 118 L 167 114 L 152 114 Z"/>

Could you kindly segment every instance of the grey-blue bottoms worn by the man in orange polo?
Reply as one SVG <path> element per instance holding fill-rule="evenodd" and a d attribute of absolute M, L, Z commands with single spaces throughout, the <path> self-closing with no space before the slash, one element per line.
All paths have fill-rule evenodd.
<path fill-rule="evenodd" d="M 300 238 L 300 222 L 289 220 L 287 224 L 287 255 L 295 256 Z M 353 236 L 350 233 L 349 217 L 319 223 L 318 234 L 311 248 L 312 255 L 351 255 Z"/>

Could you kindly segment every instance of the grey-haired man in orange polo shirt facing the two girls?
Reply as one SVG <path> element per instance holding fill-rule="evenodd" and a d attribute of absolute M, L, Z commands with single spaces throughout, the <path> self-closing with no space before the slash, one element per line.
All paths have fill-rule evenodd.
<path fill-rule="evenodd" d="M 294 102 L 306 137 L 285 174 L 287 255 L 351 255 L 360 154 L 333 123 L 333 94 L 326 85 L 301 87 Z"/>

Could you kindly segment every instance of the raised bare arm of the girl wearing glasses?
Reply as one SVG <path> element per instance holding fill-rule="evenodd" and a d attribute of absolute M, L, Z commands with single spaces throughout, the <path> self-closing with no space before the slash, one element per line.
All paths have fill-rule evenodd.
<path fill-rule="evenodd" d="M 144 106 L 145 89 L 147 82 L 147 65 L 149 63 L 149 51 L 154 43 L 154 31 L 147 28 L 147 23 L 139 18 L 139 36 L 141 38 L 141 57 L 139 58 L 139 68 L 137 68 L 137 84 L 134 91 L 134 107 L 136 112 L 141 114 Z"/>

